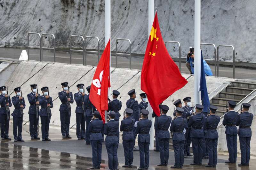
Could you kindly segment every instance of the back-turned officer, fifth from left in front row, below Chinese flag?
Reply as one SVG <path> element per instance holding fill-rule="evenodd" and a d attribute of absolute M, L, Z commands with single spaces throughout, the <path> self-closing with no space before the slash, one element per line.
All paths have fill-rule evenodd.
<path fill-rule="evenodd" d="M 172 118 L 166 115 L 168 110 L 168 106 L 162 105 L 161 116 L 157 117 L 155 122 L 155 131 L 158 131 L 157 137 L 160 150 L 160 164 L 157 166 L 167 166 L 169 159 L 170 133 L 168 129 Z"/>

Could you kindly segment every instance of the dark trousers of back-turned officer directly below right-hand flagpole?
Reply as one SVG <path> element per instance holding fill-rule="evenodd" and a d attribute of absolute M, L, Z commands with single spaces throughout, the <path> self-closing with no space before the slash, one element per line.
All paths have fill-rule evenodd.
<path fill-rule="evenodd" d="M 191 137 L 194 155 L 194 163 L 202 164 L 203 159 L 203 137 Z"/>

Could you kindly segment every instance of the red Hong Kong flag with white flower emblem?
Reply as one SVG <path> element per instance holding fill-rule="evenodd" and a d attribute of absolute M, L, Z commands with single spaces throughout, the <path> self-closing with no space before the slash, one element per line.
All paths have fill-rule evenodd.
<path fill-rule="evenodd" d="M 105 110 L 108 110 L 108 87 L 110 87 L 109 62 L 110 40 L 95 70 L 89 96 L 93 106 L 100 112 L 103 123 L 105 123 Z"/>

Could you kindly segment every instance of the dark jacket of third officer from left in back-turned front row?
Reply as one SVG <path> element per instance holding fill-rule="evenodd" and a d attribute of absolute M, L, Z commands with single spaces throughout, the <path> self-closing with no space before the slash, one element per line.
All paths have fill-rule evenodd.
<path fill-rule="evenodd" d="M 124 120 L 121 121 L 120 131 L 124 131 L 123 140 L 135 140 L 134 134 L 132 132 L 134 124 L 135 120 L 131 117 L 126 117 Z"/>

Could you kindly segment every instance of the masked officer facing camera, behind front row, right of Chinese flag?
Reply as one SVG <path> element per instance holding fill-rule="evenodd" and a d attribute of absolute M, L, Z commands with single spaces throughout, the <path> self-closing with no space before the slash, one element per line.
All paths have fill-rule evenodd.
<path fill-rule="evenodd" d="M 186 115 L 185 119 L 187 119 L 187 123 L 188 123 L 189 118 L 192 115 L 192 110 L 193 110 L 193 108 L 191 107 L 191 97 L 185 97 L 183 99 L 183 101 L 185 103 L 185 106 L 182 108 L 184 109 L 184 115 Z M 186 133 L 185 133 L 185 144 L 184 144 L 184 157 L 185 158 L 187 158 L 188 156 L 193 156 L 189 151 L 190 144 L 191 144 L 190 131 L 191 131 L 191 128 L 188 127 L 186 129 Z"/>

